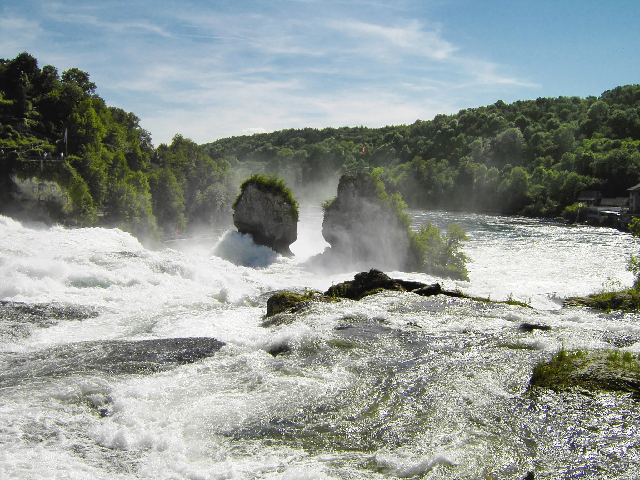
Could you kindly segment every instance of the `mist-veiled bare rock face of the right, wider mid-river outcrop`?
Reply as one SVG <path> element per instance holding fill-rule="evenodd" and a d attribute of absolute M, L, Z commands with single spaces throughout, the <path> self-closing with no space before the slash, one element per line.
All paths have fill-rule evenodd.
<path fill-rule="evenodd" d="M 407 228 L 383 205 L 369 175 L 340 178 L 338 196 L 324 211 L 322 234 L 332 257 L 345 262 L 396 270 L 406 266 Z"/>

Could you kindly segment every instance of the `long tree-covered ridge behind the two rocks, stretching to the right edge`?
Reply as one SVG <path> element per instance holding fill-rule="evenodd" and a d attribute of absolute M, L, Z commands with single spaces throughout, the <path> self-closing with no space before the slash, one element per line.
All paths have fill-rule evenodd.
<path fill-rule="evenodd" d="M 640 182 L 640 85 L 599 98 L 499 100 L 412 125 L 225 138 L 205 148 L 236 166 L 285 175 L 296 193 L 337 173 L 383 168 L 387 189 L 412 207 L 555 216 L 582 189 L 624 196 Z"/>

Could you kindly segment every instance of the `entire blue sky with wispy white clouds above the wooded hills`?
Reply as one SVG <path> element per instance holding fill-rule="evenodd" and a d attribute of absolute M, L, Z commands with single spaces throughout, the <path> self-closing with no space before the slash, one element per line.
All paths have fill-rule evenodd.
<path fill-rule="evenodd" d="M 640 83 L 640 2 L 0 0 L 0 57 L 90 73 L 156 145 L 408 124 Z"/>

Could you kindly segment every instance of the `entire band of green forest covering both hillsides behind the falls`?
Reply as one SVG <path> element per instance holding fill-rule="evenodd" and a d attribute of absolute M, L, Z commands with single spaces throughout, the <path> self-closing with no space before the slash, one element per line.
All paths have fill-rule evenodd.
<path fill-rule="evenodd" d="M 322 184 L 334 195 L 341 173 L 380 168 L 387 191 L 411 207 L 556 216 L 582 189 L 623 196 L 640 182 L 640 85 L 586 99 L 499 100 L 379 129 L 290 129 L 205 145 L 176 135 L 156 148 L 87 72 L 60 75 L 22 53 L 0 60 L 0 150 L 0 212 L 12 212 L 10 175 L 38 177 L 67 188 L 84 225 L 138 235 L 225 221 L 252 173 L 284 176 L 304 200 Z M 58 161 L 41 170 L 33 158 L 45 153 Z"/>

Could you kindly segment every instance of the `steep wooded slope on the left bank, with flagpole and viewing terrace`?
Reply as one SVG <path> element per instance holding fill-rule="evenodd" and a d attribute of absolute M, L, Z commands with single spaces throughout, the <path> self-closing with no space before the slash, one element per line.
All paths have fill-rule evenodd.
<path fill-rule="evenodd" d="M 107 106 L 87 72 L 60 76 L 28 53 L 0 60 L 0 148 L 3 212 L 13 206 L 12 174 L 60 182 L 84 225 L 100 220 L 138 235 L 211 223 L 228 211 L 226 161 L 180 135 L 154 148 L 140 119 Z M 41 170 L 33 158 L 44 154 Z"/>

